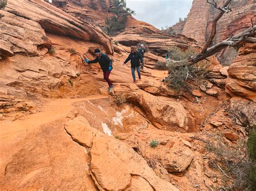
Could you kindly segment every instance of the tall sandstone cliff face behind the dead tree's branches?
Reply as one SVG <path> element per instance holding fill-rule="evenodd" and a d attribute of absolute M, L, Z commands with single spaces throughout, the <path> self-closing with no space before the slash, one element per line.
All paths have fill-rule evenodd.
<path fill-rule="evenodd" d="M 223 1 L 215 2 L 218 6 L 223 4 Z M 225 13 L 218 22 L 217 34 L 213 40 L 214 44 L 251 27 L 251 18 L 254 21 L 256 19 L 256 2 L 254 0 L 232 1 L 231 8 L 232 11 Z M 194 0 L 183 34 L 196 39 L 198 44 L 203 46 L 211 34 L 212 20 L 218 12 L 213 5 L 206 3 L 205 0 Z M 237 52 L 233 48 L 226 48 L 218 54 L 218 59 L 223 65 L 230 65 L 235 56 L 237 56 Z"/>

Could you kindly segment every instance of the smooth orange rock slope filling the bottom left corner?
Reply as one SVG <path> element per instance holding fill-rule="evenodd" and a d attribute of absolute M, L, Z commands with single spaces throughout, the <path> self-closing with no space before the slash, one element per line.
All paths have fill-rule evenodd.
<path fill-rule="evenodd" d="M 45 113 L 41 117 L 43 115 Z M 64 131 L 65 118 L 40 128 L 35 126 L 39 118 L 37 116 L 33 121 L 31 117 L 26 118 L 24 123 L 21 122 L 23 125 L 6 124 L 11 130 L 5 134 L 1 126 L 5 122 L 0 125 L 1 189 L 96 190 L 89 176 L 89 157 L 84 148 L 72 142 Z"/>

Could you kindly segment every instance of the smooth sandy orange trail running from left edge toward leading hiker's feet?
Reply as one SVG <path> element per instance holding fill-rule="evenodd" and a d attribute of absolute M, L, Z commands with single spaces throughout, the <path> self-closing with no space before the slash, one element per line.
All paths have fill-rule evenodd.
<path fill-rule="evenodd" d="M 69 112 L 73 109 L 73 103 L 86 101 L 86 100 L 97 100 L 100 98 L 106 98 L 104 95 L 93 95 L 85 98 L 65 98 L 52 100 L 45 104 L 41 112 L 36 114 L 24 116 L 14 122 L 12 121 L 1 121 L 0 122 L 0 151 L 2 146 L 17 142 L 19 139 L 27 133 L 43 124 L 56 121 L 59 118 L 66 117 Z"/>

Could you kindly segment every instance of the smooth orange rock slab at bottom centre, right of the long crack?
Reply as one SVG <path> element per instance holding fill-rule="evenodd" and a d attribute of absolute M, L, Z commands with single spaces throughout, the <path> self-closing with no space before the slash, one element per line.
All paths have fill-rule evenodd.
<path fill-rule="evenodd" d="M 81 126 L 83 122 L 84 128 Z M 80 128 L 74 130 L 77 125 Z M 178 190 L 171 183 L 158 178 L 153 169 L 131 147 L 91 128 L 84 117 L 79 116 L 67 122 L 65 128 L 70 132 L 73 140 L 79 139 L 79 144 L 90 147 L 92 143 L 89 151 L 90 168 L 99 189 L 120 190 L 132 185 L 141 185 L 145 188 L 140 189 L 145 190 L 149 189 L 150 185 L 153 190 Z M 89 131 L 93 134 L 80 135 Z"/>

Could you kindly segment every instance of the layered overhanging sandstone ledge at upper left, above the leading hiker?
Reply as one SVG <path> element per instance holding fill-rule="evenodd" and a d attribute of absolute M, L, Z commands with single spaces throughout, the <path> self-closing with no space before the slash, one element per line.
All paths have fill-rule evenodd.
<path fill-rule="evenodd" d="M 113 53 L 112 43 L 98 27 L 84 23 L 44 1 L 8 1 L 1 19 L 2 54 L 39 55 L 51 41 L 45 32 L 102 44 L 107 53 Z M 1 43 L 1 44 L 2 44 Z M 39 50 L 38 50 L 39 49 Z M 14 54 L 13 54 L 14 53 Z"/>

